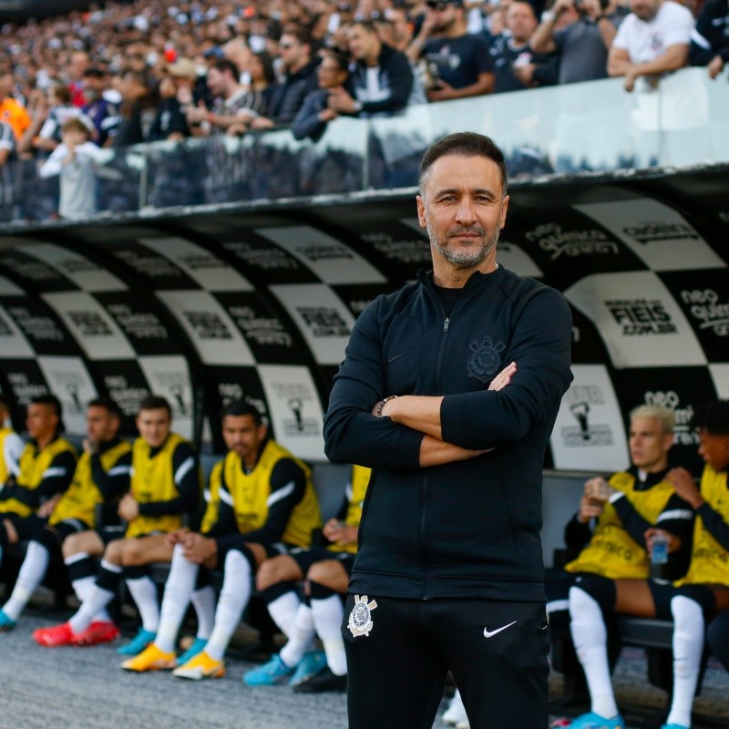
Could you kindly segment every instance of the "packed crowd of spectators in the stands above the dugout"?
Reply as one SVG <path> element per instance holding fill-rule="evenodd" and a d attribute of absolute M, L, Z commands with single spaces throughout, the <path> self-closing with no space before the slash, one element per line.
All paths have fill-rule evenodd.
<path fill-rule="evenodd" d="M 162 0 L 0 29 L 0 165 L 59 176 L 93 211 L 97 148 L 292 128 L 339 116 L 623 77 L 651 87 L 729 59 L 726 0 Z"/>

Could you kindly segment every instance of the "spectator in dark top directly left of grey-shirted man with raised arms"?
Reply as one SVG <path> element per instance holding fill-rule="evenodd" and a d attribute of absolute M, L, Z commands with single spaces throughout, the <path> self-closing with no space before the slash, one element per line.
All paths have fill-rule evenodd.
<path fill-rule="evenodd" d="M 529 46 L 536 27 L 537 16 L 529 3 L 514 0 L 508 5 L 506 31 L 494 40 L 489 51 L 496 74 L 495 93 L 557 83 L 558 59 L 536 53 Z"/>

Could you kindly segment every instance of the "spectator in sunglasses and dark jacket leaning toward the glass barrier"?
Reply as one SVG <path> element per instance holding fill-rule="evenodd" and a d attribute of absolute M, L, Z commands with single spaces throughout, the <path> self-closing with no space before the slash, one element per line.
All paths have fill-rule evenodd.
<path fill-rule="evenodd" d="M 285 27 L 279 49 L 283 80 L 272 93 L 266 116 L 252 120 L 253 129 L 289 126 L 302 107 L 303 99 L 318 86 L 316 67 L 319 58 L 313 56 L 311 36 L 303 27 Z"/>

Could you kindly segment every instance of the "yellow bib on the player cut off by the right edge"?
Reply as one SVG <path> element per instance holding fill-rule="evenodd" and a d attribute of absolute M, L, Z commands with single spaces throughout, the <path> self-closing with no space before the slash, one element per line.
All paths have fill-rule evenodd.
<path fill-rule="evenodd" d="M 729 491 L 726 488 L 726 471 L 714 471 L 711 466 L 703 468 L 701 477 L 701 495 L 703 500 L 729 523 Z M 708 529 L 703 526 L 703 519 L 696 516 L 693 527 L 693 549 L 691 564 L 681 585 L 729 585 L 729 552 L 719 544 Z"/>

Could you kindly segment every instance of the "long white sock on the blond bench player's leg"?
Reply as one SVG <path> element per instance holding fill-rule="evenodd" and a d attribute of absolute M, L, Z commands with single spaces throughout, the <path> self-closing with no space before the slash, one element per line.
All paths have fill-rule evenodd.
<path fill-rule="evenodd" d="M 608 631 L 597 601 L 579 587 L 570 588 L 570 631 L 587 677 L 592 711 L 606 719 L 618 715 L 608 662 Z"/>

